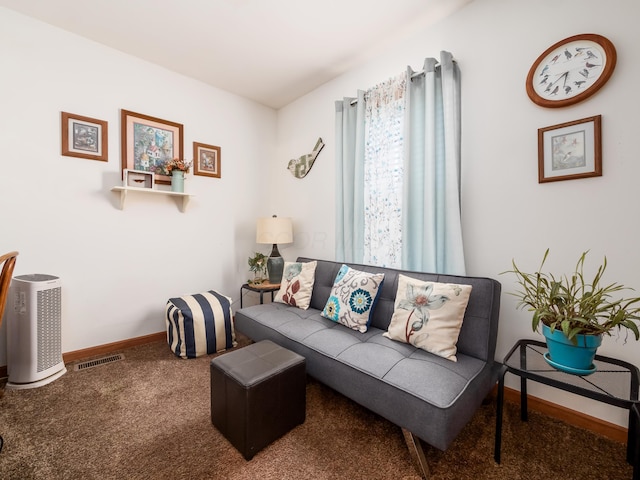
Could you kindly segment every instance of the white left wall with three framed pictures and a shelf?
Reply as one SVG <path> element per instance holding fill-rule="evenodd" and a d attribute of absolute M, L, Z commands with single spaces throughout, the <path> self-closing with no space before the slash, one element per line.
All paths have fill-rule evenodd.
<path fill-rule="evenodd" d="M 164 331 L 172 296 L 237 302 L 276 112 L 4 8 L 0 64 L 0 251 L 19 250 L 15 275 L 62 279 L 63 351 Z M 187 159 L 194 141 L 220 146 L 222 178 L 190 173 L 185 213 L 141 194 L 120 210 L 120 109 L 182 123 Z M 109 122 L 108 162 L 60 155 L 61 111 Z"/>

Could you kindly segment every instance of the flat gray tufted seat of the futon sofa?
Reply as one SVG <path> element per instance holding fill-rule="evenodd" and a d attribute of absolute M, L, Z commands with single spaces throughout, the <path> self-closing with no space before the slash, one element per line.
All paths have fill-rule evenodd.
<path fill-rule="evenodd" d="M 453 363 L 390 340 L 383 335 L 384 330 L 373 326 L 360 333 L 322 317 L 313 308 L 303 311 L 282 303 L 255 305 L 240 310 L 236 322 L 250 338 L 270 339 L 305 356 L 308 373 L 338 391 L 359 390 L 361 375 L 365 374 L 381 382 L 376 392 L 394 387 L 415 400 L 449 408 L 485 365 L 464 354 Z M 318 369 L 319 364 L 330 367 Z M 338 375 L 338 365 L 348 367 L 348 373 Z M 370 397 L 374 403 L 385 403 L 375 395 Z M 410 404 L 416 406 L 413 400 Z"/>

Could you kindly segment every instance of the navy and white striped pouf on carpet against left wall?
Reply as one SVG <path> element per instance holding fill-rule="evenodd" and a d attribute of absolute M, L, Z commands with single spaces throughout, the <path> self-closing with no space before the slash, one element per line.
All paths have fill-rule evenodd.
<path fill-rule="evenodd" d="M 170 298 L 167 343 L 178 357 L 196 358 L 236 346 L 231 299 L 213 290 Z"/>

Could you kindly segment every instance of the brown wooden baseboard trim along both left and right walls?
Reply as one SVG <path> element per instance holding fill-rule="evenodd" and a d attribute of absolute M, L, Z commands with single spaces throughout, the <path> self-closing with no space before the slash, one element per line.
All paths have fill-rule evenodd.
<path fill-rule="evenodd" d="M 84 360 L 89 357 L 113 353 L 124 348 L 137 347 L 138 345 L 145 345 L 147 343 L 163 340 L 166 341 L 166 338 L 166 332 L 152 333 L 142 337 L 129 338 L 119 342 L 107 343 L 96 347 L 89 347 L 82 350 L 64 353 L 62 355 L 62 359 L 66 364 L 77 360 Z M 0 378 L 4 378 L 6 376 L 7 366 L 0 366 Z M 494 388 L 494 394 L 496 393 L 497 386 Z M 504 398 L 505 401 L 520 404 L 520 392 L 518 390 L 505 387 Z M 549 417 L 568 423 L 569 425 L 584 428 L 585 430 L 589 430 L 617 442 L 627 442 L 627 429 L 620 425 L 616 425 L 615 423 L 606 422 L 599 418 L 586 415 L 576 410 L 571 410 L 570 408 L 566 408 L 562 405 L 543 400 L 542 398 L 533 397 L 531 395 L 527 397 L 527 405 L 531 411 L 543 413 Z"/>

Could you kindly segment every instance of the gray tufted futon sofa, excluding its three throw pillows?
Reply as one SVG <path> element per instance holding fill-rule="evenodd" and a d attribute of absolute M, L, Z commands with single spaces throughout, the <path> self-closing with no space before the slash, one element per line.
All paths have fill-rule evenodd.
<path fill-rule="evenodd" d="M 385 273 L 366 333 L 320 316 L 342 266 L 325 260 L 318 260 L 308 310 L 283 303 L 246 307 L 236 312 L 236 329 L 254 341 L 268 339 L 299 353 L 306 358 L 307 373 L 312 377 L 402 427 L 405 438 L 410 434 L 414 440 L 446 450 L 498 378 L 494 353 L 500 283 L 490 278 L 348 265 Z M 399 273 L 420 280 L 472 285 L 457 344 L 457 362 L 382 336 L 393 314 Z"/>

